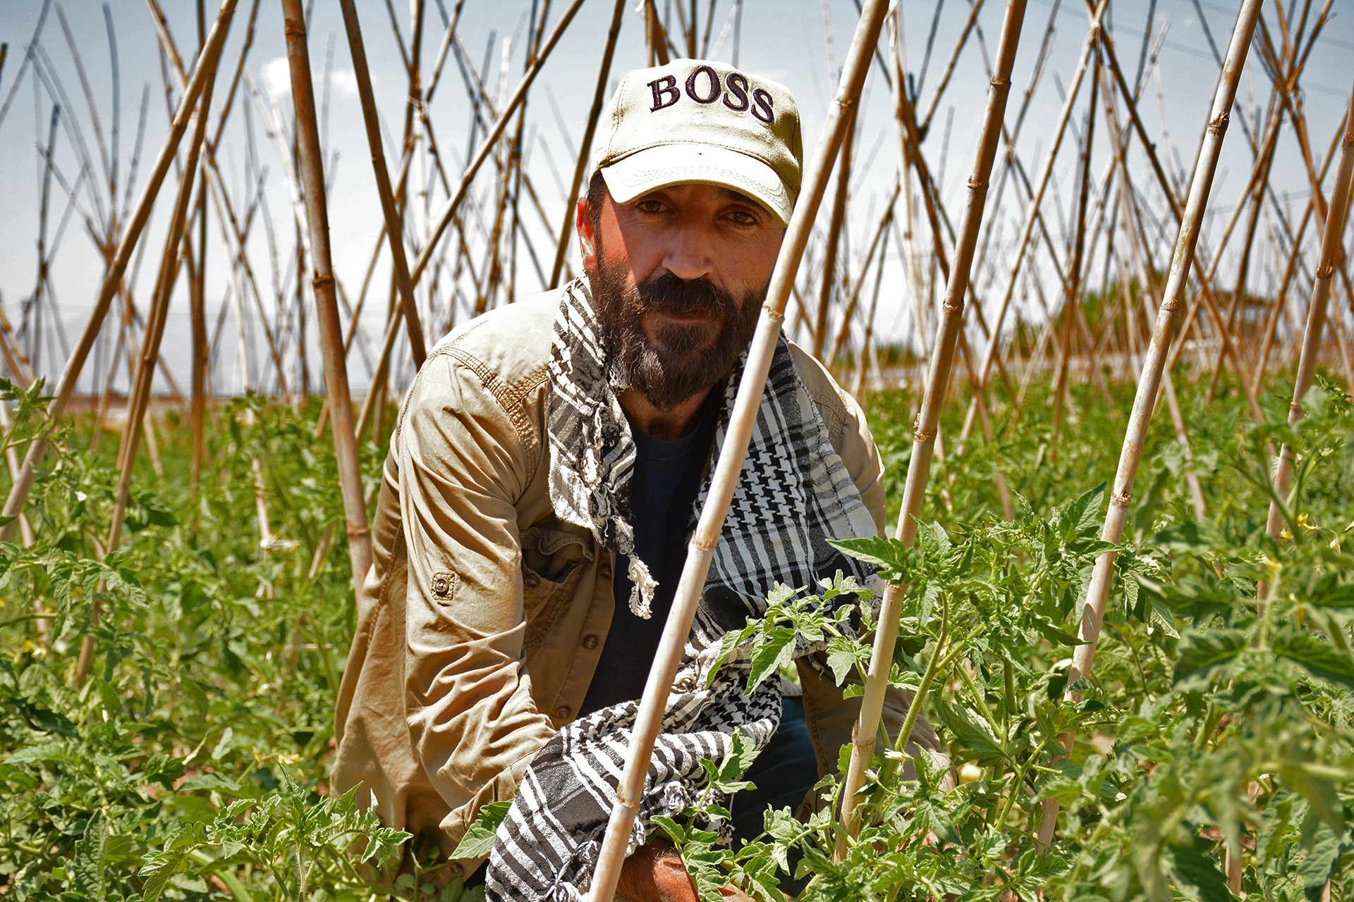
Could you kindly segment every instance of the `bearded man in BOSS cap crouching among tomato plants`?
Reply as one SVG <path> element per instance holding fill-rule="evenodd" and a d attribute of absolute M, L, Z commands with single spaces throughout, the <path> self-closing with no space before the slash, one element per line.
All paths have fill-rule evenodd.
<path fill-rule="evenodd" d="M 338 698 L 334 786 L 366 787 L 389 826 L 450 853 L 486 803 L 515 801 L 490 898 L 586 887 L 800 183 L 789 92 L 720 64 L 630 73 L 603 123 L 577 211 L 586 279 L 458 329 L 405 399 Z M 781 341 L 636 845 L 703 791 L 700 759 L 735 729 L 764 749 L 758 795 L 733 802 L 739 836 L 835 771 L 857 703 L 822 649 L 796 649 L 802 698 L 749 691 L 746 656 L 714 664 L 776 581 L 868 579 L 825 540 L 881 527 L 880 479 L 858 407 Z M 902 715 L 890 699 L 895 732 Z M 482 861 L 456 865 L 477 879 Z M 621 893 L 695 899 L 653 844 L 627 859 Z"/>

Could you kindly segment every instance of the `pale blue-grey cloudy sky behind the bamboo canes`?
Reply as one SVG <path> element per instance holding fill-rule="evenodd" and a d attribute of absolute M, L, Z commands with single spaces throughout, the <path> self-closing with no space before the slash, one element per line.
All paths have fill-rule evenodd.
<path fill-rule="evenodd" d="M 196 4 L 188 0 L 161 1 L 176 45 L 185 61 L 191 61 L 198 42 Z M 455 5 L 455 0 L 444 3 L 448 12 Z M 206 0 L 204 5 L 210 19 L 215 14 L 214 3 Z M 490 95 L 505 97 L 523 77 L 524 28 L 532 5 L 533 0 L 466 0 L 464 3 L 458 24 L 458 39 L 474 66 L 479 68 L 487 62 L 485 72 Z M 554 0 L 550 27 L 554 27 L 566 5 L 565 0 Z M 100 207 L 108 204 L 107 181 L 114 170 L 112 149 L 116 149 L 118 206 L 122 207 L 139 195 L 150 161 L 168 130 L 169 111 L 160 47 L 152 16 L 142 0 L 110 0 L 107 4 L 93 0 L 64 0 L 60 9 L 64 12 L 65 23 L 58 18 L 57 7 L 58 4 L 53 3 L 37 45 L 38 50 L 26 66 L 18 91 L 12 91 L 20 69 L 24 68 L 26 47 L 32 39 L 43 3 L 42 0 L 0 3 L 0 42 L 8 45 L 7 58 L 0 69 L 0 103 L 8 103 L 0 118 L 0 201 L 4 204 L 4 215 L 0 216 L 0 247 L 3 247 L 0 307 L 14 327 L 20 329 L 24 306 L 35 291 L 38 241 L 39 237 L 45 237 L 46 246 L 50 249 L 56 245 L 57 250 L 51 254 L 50 295 L 42 310 L 45 315 L 51 316 L 54 298 L 65 331 L 64 341 L 69 346 L 88 321 L 104 270 L 103 257 L 91 238 L 87 219 L 93 222 L 103 219 Z M 403 62 L 393 38 L 393 24 L 386 4 L 359 0 L 357 7 L 385 127 L 385 153 L 391 165 L 395 165 L 399 156 L 395 139 L 405 114 Z M 398 27 L 408 39 L 409 5 L 395 0 L 393 7 L 401 19 Z M 663 7 L 662 0 L 659 7 Z M 701 1 L 699 7 L 704 18 L 708 4 Z M 634 8 L 635 3 L 627 0 L 612 82 L 626 70 L 645 65 L 643 22 Z M 1109 20 L 1121 64 L 1129 78 L 1137 69 L 1148 8 L 1150 0 L 1112 3 Z M 428 0 L 428 9 L 429 23 L 421 54 L 425 72 L 436 61 L 444 32 L 436 0 Z M 965 183 L 972 172 L 987 99 L 988 77 L 982 50 L 986 47 L 988 57 L 995 54 L 1005 9 L 1006 4 L 998 0 L 987 0 L 980 8 L 978 27 L 982 41 L 971 39 L 965 45 L 944 96 L 936 103 L 933 124 L 922 145 L 927 162 L 938 177 L 942 200 L 956 223 L 964 207 Z M 730 11 L 731 4 L 727 0 L 715 4 L 708 55 L 735 62 L 746 72 L 787 85 L 799 103 L 806 153 L 808 153 L 816 143 L 823 111 L 856 26 L 854 1 L 745 0 L 737 30 L 734 20 L 728 18 Z M 937 4 L 930 0 L 904 1 L 906 61 L 914 84 L 919 81 L 919 114 L 925 114 L 936 97 L 945 64 L 969 11 L 969 4 L 963 0 L 941 0 L 938 15 Z M 223 73 L 233 68 L 240 54 L 248 14 L 249 0 L 241 0 L 223 55 Z M 539 253 L 546 257 L 547 269 L 552 257 L 552 242 L 544 233 L 546 220 L 555 229 L 565 214 L 567 181 L 573 173 L 573 161 L 592 101 L 597 62 L 611 14 L 612 4 L 604 0 L 586 0 L 542 68 L 529 95 L 525 168 L 540 199 L 544 220 L 535 212 L 525 214 L 524 219 L 528 222 L 528 229 L 535 230 L 535 243 Z M 1164 156 L 1163 162 L 1183 180 L 1187 180 L 1186 170 L 1193 166 L 1217 81 L 1217 64 L 1209 50 L 1200 14 L 1206 20 L 1213 41 L 1224 49 L 1236 15 L 1233 5 L 1219 0 L 1198 0 L 1197 8 L 1193 0 L 1160 0 L 1155 4 L 1154 35 L 1160 38 L 1164 30 L 1164 39 L 1160 43 L 1158 66 L 1145 80 L 1140 105 L 1144 126 Z M 1350 80 L 1354 77 L 1354 66 L 1350 65 L 1354 60 L 1354 0 L 1334 0 L 1331 14 L 1307 62 L 1301 81 L 1301 99 L 1317 158 L 1316 165 L 1326 160 L 1327 147 L 1349 101 Z M 1266 4 L 1265 15 L 1271 34 L 1278 39 L 1275 9 L 1271 4 Z M 936 38 L 927 60 L 925 49 L 933 20 Z M 116 42 L 116 78 L 110 54 L 108 23 Z M 1028 112 L 1016 143 L 1030 177 L 1049 143 L 1066 82 L 1072 74 L 1086 37 L 1085 3 L 1062 0 L 1055 5 L 1052 0 L 1032 0 L 1028 4 L 1007 103 L 1009 127 L 1025 100 L 1040 45 L 1049 27 L 1053 34 L 1047 64 L 1029 97 Z M 349 298 L 355 298 L 367 272 L 382 220 L 357 103 L 356 80 L 337 3 L 321 0 L 313 4 L 309 38 L 317 93 L 328 95 L 322 141 L 329 157 L 326 177 L 330 181 L 329 211 L 334 266 Z M 74 64 L 76 55 L 72 49 L 79 51 L 84 80 Z M 887 41 L 881 41 L 880 49 L 887 53 Z M 234 204 L 242 207 L 244 199 L 252 193 L 255 176 L 250 173 L 263 173 L 264 204 L 255 215 L 260 223 L 267 220 L 271 234 L 267 227 L 256 224 L 250 231 L 246 252 L 269 315 L 276 295 L 280 292 L 287 296 L 294 291 L 288 264 L 295 247 L 295 224 L 291 215 L 292 196 L 284 177 L 288 162 L 279 154 L 279 142 L 269 141 L 264 127 L 265 114 L 275 115 L 279 122 L 290 122 L 290 78 L 284 53 L 280 5 L 275 0 L 263 0 L 246 61 L 246 69 L 259 93 L 253 96 L 241 87 L 218 150 L 218 162 Z M 41 72 L 42 77 L 34 78 L 35 72 Z M 846 256 L 853 273 L 862 262 L 869 235 L 896 177 L 898 153 L 892 103 L 888 87 L 877 74 L 877 70 L 872 69 L 867 82 L 850 183 Z M 223 92 L 223 82 L 218 82 L 218 89 Z M 126 181 L 137 146 L 138 111 L 144 97 L 146 99 L 145 135 L 137 181 L 131 196 L 127 197 Z M 1083 87 L 1072 119 L 1078 130 L 1083 127 L 1086 97 L 1087 91 Z M 1269 77 L 1258 66 L 1257 54 L 1252 53 L 1238 93 L 1240 118 L 1252 122 L 1261 118 L 1269 97 Z M 214 108 L 219 108 L 222 100 L 218 93 Z M 116 139 L 111 134 L 115 104 L 119 112 Z M 60 107 L 60 116 L 56 131 L 51 133 L 54 105 Z M 248 116 L 242 112 L 245 107 L 249 107 Z M 97 130 L 91 108 L 97 114 Z M 428 115 L 439 142 L 440 158 L 448 170 L 448 177 L 455 183 L 467 157 L 470 107 L 462 74 L 452 61 L 445 65 L 443 78 L 428 105 Z M 1224 143 L 1210 197 L 1205 245 L 1209 239 L 1216 239 L 1215 233 L 1225 226 L 1244 189 L 1252 164 L 1251 150 L 1242 130 L 1235 127 L 1235 122 L 1236 116 Z M 1106 170 L 1109 150 L 1102 138 L 1104 124 L 1099 123 L 1097 127 L 1099 143 L 1093 145 L 1091 170 L 1099 179 Z M 1257 127 L 1251 126 L 1252 130 Z M 53 170 L 50 177 L 45 179 L 47 173 L 43 147 L 47 146 L 49 134 L 56 135 L 50 156 Z M 81 142 L 88 150 L 88 157 L 95 161 L 92 170 L 84 174 L 76 153 Z M 187 142 L 180 150 L 180 158 L 185 145 Z M 102 146 L 108 147 L 107 154 Z M 420 156 L 416 158 L 414 170 L 416 173 L 420 168 L 427 170 L 429 165 L 429 161 Z M 1135 150 L 1131 154 L 1131 166 L 1135 169 L 1136 184 L 1148 185 L 1150 177 L 1140 151 Z M 489 197 L 494 191 L 492 173 L 493 169 L 486 168 L 477 179 L 474 188 L 477 197 Z M 49 191 L 49 218 L 43 229 L 39 211 L 45 181 Z M 150 226 L 141 239 L 141 257 L 134 262 L 135 277 L 130 284 L 141 310 L 149 306 L 175 184 L 176 173 L 172 169 L 156 204 Z M 1288 123 L 1281 133 L 1271 184 L 1282 203 L 1288 206 L 1289 216 L 1300 218 L 1309 196 L 1309 181 L 1292 126 Z M 1330 177 L 1326 191 L 1328 188 Z M 72 189 L 74 201 L 70 200 L 72 193 L 68 193 L 68 189 Z M 1152 189 L 1145 188 L 1145 191 L 1151 197 Z M 1075 153 L 1064 146 L 1057 157 L 1051 196 L 1045 200 L 1044 212 L 1051 224 L 1071 216 L 1074 193 Z M 994 204 L 990 199 L 986 222 L 994 231 L 983 245 L 987 256 L 976 262 L 978 284 L 986 284 L 984 279 L 991 279 L 1006 265 L 1010 238 L 1016 233 L 1021 214 L 1020 207 L 1011 203 L 1013 197 L 1014 192 L 1009 189 L 999 204 Z M 1155 197 L 1156 210 L 1163 212 L 1160 195 Z M 440 193 L 440 189 L 433 189 L 422 204 L 425 210 L 420 210 L 416 201 L 412 218 L 414 229 L 425 227 L 425 220 L 436 215 L 444 200 L 445 195 Z M 826 216 L 827 207 L 830 204 L 825 204 L 821 222 L 822 216 Z M 215 216 L 211 219 L 207 310 L 209 329 L 215 333 L 219 323 L 217 391 L 234 392 L 244 387 L 244 373 L 236 354 L 237 326 L 233 308 L 236 296 L 229 277 L 229 250 L 221 238 Z M 1309 229 L 1308 234 L 1315 234 L 1315 230 Z M 276 270 L 269 262 L 269 239 L 279 254 Z M 1174 231 L 1163 223 L 1159 246 L 1155 249 L 1159 268 L 1166 265 L 1173 239 Z M 571 265 L 577 266 L 577 250 L 571 253 Z M 1224 257 L 1220 272 L 1227 272 L 1229 261 L 1231 258 Z M 1269 269 L 1274 269 L 1273 261 Z M 914 325 L 909 303 L 903 298 L 904 280 L 896 242 L 887 247 L 883 272 L 877 330 L 888 341 L 907 342 L 911 339 Z M 519 296 L 529 296 L 543 287 L 524 254 L 519 256 L 516 276 Z M 1255 279 L 1252 291 L 1263 291 L 1265 280 L 1271 280 L 1263 273 Z M 379 342 L 389 292 L 386 256 L 378 261 L 371 284 L 371 298 L 363 322 L 370 333 L 370 341 Z M 28 310 L 31 314 L 32 308 Z M 313 321 L 313 315 L 310 319 Z M 180 387 L 187 385 L 188 323 L 188 298 L 184 280 L 180 279 L 161 350 Z M 313 323 L 310 329 L 313 330 Z M 45 335 L 47 338 L 39 349 L 39 369 L 51 379 L 60 372 L 65 353 L 57 330 L 47 329 Z M 106 330 L 106 342 L 111 342 L 112 331 Z M 83 388 L 103 383 L 102 373 L 108 368 L 110 348 L 111 343 L 102 343 L 87 364 Z M 257 354 L 257 350 L 255 353 Z M 307 353 L 311 389 L 318 391 L 318 346 L 314 343 L 313 331 Z M 368 379 L 366 354 L 366 349 L 360 348 L 353 352 L 349 361 L 352 381 L 359 389 Z M 288 369 L 294 369 L 298 362 L 286 361 Z M 268 389 L 271 371 L 267 362 L 255 360 L 250 371 L 250 383 Z M 125 385 L 126 375 L 123 373 L 115 384 Z M 157 383 L 158 391 L 167 388 L 164 380 Z"/>

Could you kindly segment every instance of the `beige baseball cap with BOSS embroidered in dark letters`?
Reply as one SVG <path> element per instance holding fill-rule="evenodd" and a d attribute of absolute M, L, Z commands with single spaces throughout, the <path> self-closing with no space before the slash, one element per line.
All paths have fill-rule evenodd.
<path fill-rule="evenodd" d="M 742 192 L 788 226 L 802 160 L 788 88 L 722 62 L 673 60 L 621 80 L 593 169 L 617 203 L 695 181 Z"/>

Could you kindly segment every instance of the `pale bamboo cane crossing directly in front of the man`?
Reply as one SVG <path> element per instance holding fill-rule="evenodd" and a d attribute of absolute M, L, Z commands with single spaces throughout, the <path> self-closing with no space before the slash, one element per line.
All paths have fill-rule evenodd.
<path fill-rule="evenodd" d="M 806 169 L 803 188 L 795 203 L 789 227 L 785 230 L 780 256 L 776 258 L 776 268 L 766 291 L 766 302 L 762 304 L 761 316 L 757 321 L 757 331 L 749 348 L 747 362 L 730 414 L 728 433 L 719 449 L 719 460 L 711 476 L 709 495 L 692 536 L 681 580 L 663 625 L 658 653 L 654 656 L 654 664 L 645 683 L 645 694 L 639 703 L 630 749 L 626 755 L 626 769 L 616 787 L 616 805 L 612 807 L 611 820 L 607 824 L 607 834 L 588 893 L 588 899 L 592 902 L 609 902 L 616 891 L 631 826 L 643 795 L 649 759 L 653 755 L 654 740 L 662 728 L 668 691 L 681 664 L 682 648 L 691 632 L 701 587 L 709 572 L 715 546 L 719 544 L 719 530 L 723 526 L 728 503 L 738 484 L 738 475 L 742 471 L 743 457 L 747 453 L 747 442 L 751 438 L 753 423 L 761 406 L 766 373 L 770 371 L 780 326 L 785 316 L 785 302 L 789 298 L 799 261 L 808 243 L 814 218 L 831 174 L 833 161 L 860 97 L 865 72 L 869 68 L 869 57 L 879 41 L 887 11 L 887 0 L 869 0 L 861 12 L 837 93 L 827 110 L 818 147 Z"/>

